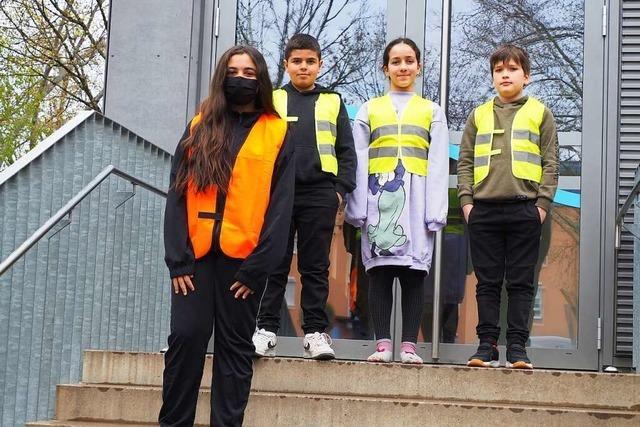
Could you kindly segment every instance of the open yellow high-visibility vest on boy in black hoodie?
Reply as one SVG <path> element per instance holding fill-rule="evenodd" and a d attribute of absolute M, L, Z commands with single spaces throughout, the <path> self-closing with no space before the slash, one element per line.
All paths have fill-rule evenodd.
<path fill-rule="evenodd" d="M 298 120 L 287 115 L 287 91 L 273 91 L 273 105 L 280 117 L 288 122 Z M 338 134 L 338 114 L 340 113 L 340 96 L 336 93 L 321 93 L 315 105 L 316 146 L 320 155 L 320 167 L 324 172 L 338 175 L 338 159 L 336 157 L 336 136 Z"/>

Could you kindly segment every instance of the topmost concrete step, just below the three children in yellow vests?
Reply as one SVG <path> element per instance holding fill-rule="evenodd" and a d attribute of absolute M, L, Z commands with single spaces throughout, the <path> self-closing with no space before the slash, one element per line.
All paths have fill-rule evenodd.
<path fill-rule="evenodd" d="M 205 388 L 211 383 L 211 363 L 209 356 L 202 381 Z M 161 386 L 163 366 L 158 353 L 88 351 L 83 382 Z M 290 358 L 257 360 L 254 371 L 252 390 L 260 392 L 640 411 L 640 376 L 633 374 Z M 383 386 L 373 387 L 372 378 Z"/>

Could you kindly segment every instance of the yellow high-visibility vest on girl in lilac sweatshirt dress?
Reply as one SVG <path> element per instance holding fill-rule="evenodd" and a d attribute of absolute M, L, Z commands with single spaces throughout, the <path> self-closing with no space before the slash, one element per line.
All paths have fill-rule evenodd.
<path fill-rule="evenodd" d="M 433 102 L 414 95 L 398 118 L 387 94 L 369 101 L 369 173 L 393 171 L 398 161 L 413 174 L 427 176 Z"/>

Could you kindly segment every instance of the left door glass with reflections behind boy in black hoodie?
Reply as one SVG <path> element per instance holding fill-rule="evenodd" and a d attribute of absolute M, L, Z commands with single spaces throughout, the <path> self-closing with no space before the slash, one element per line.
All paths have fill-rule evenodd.
<path fill-rule="evenodd" d="M 342 94 L 347 105 L 360 105 L 385 90 L 380 71 L 386 43 L 386 0 L 240 0 L 236 42 L 259 49 L 267 60 L 274 87 L 289 79 L 283 67 L 289 37 L 316 37 L 324 64 L 318 82 Z M 371 339 L 368 322 L 367 277 L 360 261 L 359 233 L 343 229 L 338 213 L 329 270 L 327 332 L 333 338 Z M 346 246 L 346 247 L 345 247 Z M 302 335 L 300 274 L 294 252 L 289 286 L 281 309 L 280 336 Z"/>

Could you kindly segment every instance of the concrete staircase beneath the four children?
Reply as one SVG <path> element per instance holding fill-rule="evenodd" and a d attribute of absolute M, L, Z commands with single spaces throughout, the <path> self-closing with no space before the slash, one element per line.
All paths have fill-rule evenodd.
<path fill-rule="evenodd" d="M 208 357 L 196 423 L 208 424 Z M 163 358 L 87 351 L 59 385 L 56 420 L 27 426 L 157 425 Z M 256 361 L 246 426 L 637 426 L 640 376 L 303 359 Z"/>

